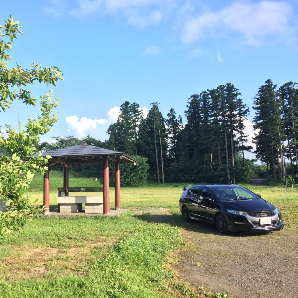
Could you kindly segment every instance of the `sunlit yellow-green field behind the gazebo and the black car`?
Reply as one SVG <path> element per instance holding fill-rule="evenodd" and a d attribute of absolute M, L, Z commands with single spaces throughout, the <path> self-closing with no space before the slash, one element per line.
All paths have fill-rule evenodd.
<path fill-rule="evenodd" d="M 172 214 L 179 214 L 179 198 L 182 192 L 182 185 L 160 185 L 151 187 L 122 187 L 121 188 L 121 207 L 141 207 L 143 209 L 151 207 L 167 208 Z M 298 190 L 281 187 L 258 187 L 249 184 L 242 184 L 254 193 L 261 194 L 262 198 L 274 204 L 282 212 L 285 229 L 297 231 L 298 228 Z M 176 186 L 176 184 L 175 184 Z M 88 193 L 84 193 L 88 194 Z M 102 193 L 99 193 L 102 194 Z M 27 195 L 32 200 L 38 200 L 43 204 L 43 192 L 31 191 Z M 93 193 L 94 195 L 94 193 Z M 57 191 L 50 192 L 50 209 L 58 209 Z M 115 189 L 110 187 L 110 208 L 115 208 Z"/>

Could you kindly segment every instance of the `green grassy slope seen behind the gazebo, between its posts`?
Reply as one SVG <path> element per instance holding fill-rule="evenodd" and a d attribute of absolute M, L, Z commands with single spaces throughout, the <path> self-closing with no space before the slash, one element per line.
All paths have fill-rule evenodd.
<path fill-rule="evenodd" d="M 94 172 L 69 172 L 69 187 L 101 187 L 103 179 L 98 178 L 98 173 Z M 97 181 L 94 178 L 97 178 Z M 114 178 L 114 177 L 113 177 Z M 50 190 L 57 190 L 58 187 L 63 187 L 63 172 L 50 172 Z M 114 181 L 110 182 L 110 186 L 115 186 Z M 29 191 L 43 190 L 44 177 L 38 173 L 30 184 Z"/>

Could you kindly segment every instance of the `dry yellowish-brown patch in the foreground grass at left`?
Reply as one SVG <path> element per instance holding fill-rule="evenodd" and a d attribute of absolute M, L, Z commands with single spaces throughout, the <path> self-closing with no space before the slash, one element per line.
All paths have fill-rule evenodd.
<path fill-rule="evenodd" d="M 43 279 L 48 274 L 85 275 L 90 263 L 104 257 L 117 240 L 84 241 L 83 247 L 57 248 L 14 248 L 14 256 L 1 260 L 0 274 L 7 281 Z M 96 254 L 94 253 L 96 252 Z M 17 256 L 15 256 L 17 255 Z"/>

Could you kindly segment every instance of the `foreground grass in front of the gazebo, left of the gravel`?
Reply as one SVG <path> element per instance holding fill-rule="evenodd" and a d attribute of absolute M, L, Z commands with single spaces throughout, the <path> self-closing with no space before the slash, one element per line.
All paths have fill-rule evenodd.
<path fill-rule="evenodd" d="M 0 297 L 170 297 L 173 272 L 164 263 L 181 245 L 177 228 L 129 213 L 35 219 L 0 248 L 23 254 L 2 257 Z"/>

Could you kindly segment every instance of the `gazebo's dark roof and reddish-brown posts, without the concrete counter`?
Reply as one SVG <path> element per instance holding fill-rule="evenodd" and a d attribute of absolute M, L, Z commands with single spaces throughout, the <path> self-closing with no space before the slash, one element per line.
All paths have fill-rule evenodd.
<path fill-rule="evenodd" d="M 68 166 L 69 164 L 103 164 L 103 214 L 110 213 L 109 198 L 109 163 L 115 164 L 115 209 L 120 205 L 120 162 L 136 164 L 136 160 L 125 153 L 99 148 L 81 142 L 80 145 L 43 152 L 42 157 L 50 155 L 48 166 L 63 164 L 63 195 L 69 195 Z M 49 170 L 44 174 L 44 206 L 49 213 Z"/>

